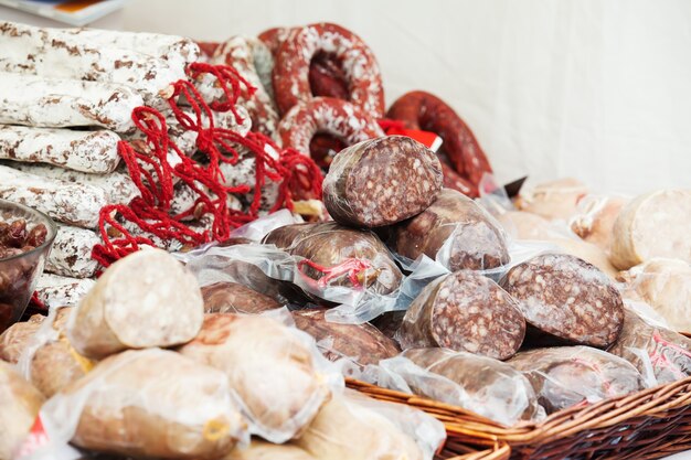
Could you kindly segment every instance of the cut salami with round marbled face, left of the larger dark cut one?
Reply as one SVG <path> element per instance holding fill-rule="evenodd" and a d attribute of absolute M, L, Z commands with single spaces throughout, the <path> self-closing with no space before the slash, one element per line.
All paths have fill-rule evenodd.
<path fill-rule="evenodd" d="M 511 296 L 491 279 L 460 270 L 422 290 L 397 339 L 404 350 L 443 346 L 506 360 L 524 335 L 525 321 Z"/>

